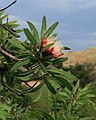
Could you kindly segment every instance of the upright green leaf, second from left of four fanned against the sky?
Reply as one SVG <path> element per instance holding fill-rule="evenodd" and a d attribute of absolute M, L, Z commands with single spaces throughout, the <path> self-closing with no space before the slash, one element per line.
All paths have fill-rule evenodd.
<path fill-rule="evenodd" d="M 36 27 L 29 21 L 27 21 L 32 33 L 33 33 L 33 36 L 35 38 L 35 40 L 37 41 L 37 43 L 39 42 L 39 35 L 38 35 L 38 31 L 36 29 Z"/>

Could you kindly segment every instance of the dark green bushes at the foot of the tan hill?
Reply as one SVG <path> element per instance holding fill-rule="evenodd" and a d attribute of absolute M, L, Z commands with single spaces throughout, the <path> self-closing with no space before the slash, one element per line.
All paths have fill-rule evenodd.
<path fill-rule="evenodd" d="M 81 87 L 96 80 L 96 64 L 84 63 L 69 66 L 68 70 L 81 81 Z"/>

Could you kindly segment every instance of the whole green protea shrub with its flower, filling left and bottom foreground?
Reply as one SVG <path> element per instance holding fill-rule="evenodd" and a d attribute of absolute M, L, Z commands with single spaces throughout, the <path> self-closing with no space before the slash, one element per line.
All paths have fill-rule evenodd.
<path fill-rule="evenodd" d="M 82 114 L 79 109 L 90 103 L 95 109 L 90 99 L 95 96 L 87 86 L 80 89 L 79 81 L 74 86 L 77 78 L 64 70 L 63 62 L 67 58 L 63 50 L 69 48 L 59 46 L 57 34 L 52 34 L 58 22 L 47 28 L 44 16 L 40 35 L 33 23 L 27 21 L 27 24 L 30 29 L 18 29 L 17 21 L 9 21 L 8 14 L 0 12 L 0 119 L 85 119 L 87 113 Z M 24 32 L 25 41 L 18 39 L 20 32 Z M 29 82 L 33 81 L 30 86 Z M 46 110 L 37 104 L 43 90 L 47 102 L 50 101 Z"/>

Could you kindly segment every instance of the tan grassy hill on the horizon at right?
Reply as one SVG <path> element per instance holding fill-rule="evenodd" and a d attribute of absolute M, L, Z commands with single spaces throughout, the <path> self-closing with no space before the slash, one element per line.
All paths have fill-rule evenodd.
<path fill-rule="evenodd" d="M 96 63 L 96 47 L 82 51 L 68 52 L 64 56 L 68 57 L 68 60 L 64 63 L 66 66 L 75 65 L 76 63 L 82 64 L 84 62 Z"/>

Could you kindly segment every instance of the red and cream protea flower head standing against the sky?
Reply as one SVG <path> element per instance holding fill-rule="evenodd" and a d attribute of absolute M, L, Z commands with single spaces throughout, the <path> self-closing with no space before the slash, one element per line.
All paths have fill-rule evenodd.
<path fill-rule="evenodd" d="M 41 48 L 46 47 L 48 44 L 53 43 L 54 45 L 52 45 L 46 52 L 48 54 L 51 54 L 54 58 L 60 57 L 63 55 L 62 51 L 61 51 L 61 46 L 58 45 L 58 40 L 52 40 L 52 37 L 44 37 L 42 39 L 42 44 L 41 44 Z"/>

